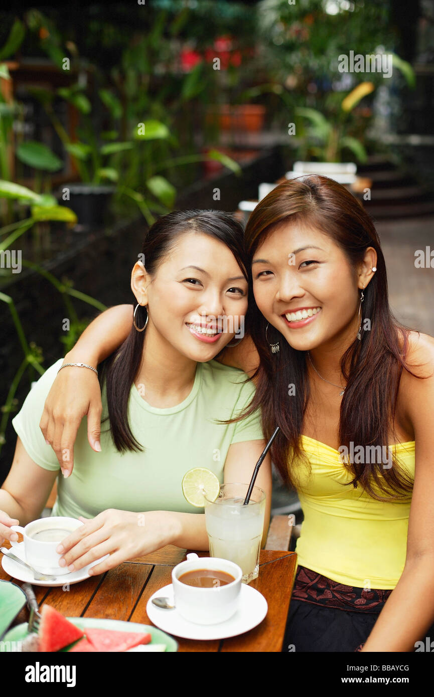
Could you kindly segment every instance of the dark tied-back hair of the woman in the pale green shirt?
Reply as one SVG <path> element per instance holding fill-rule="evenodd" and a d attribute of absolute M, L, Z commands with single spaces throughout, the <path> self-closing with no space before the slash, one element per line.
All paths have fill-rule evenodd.
<path fill-rule="evenodd" d="M 158 218 L 149 228 L 144 238 L 142 254 L 147 272 L 153 276 L 165 256 L 172 250 L 183 233 L 204 233 L 220 240 L 234 254 L 235 259 L 247 281 L 249 265 L 244 250 L 244 230 L 241 223 L 223 210 L 174 210 Z M 250 284 L 249 284 L 250 286 Z M 137 308 L 135 321 L 142 327 L 146 321 L 147 309 Z M 245 318 L 248 322 L 248 313 Z M 142 444 L 133 436 L 128 422 L 128 399 L 131 385 L 140 369 L 144 345 L 143 332 L 134 326 L 117 351 L 106 358 L 98 369 L 101 390 L 106 385 L 108 415 L 102 422 L 110 420 L 110 430 L 114 446 L 118 452 L 141 451 Z"/>

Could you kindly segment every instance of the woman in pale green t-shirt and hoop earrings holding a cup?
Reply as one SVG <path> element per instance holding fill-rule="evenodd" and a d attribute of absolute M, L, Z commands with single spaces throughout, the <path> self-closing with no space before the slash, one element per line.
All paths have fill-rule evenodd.
<path fill-rule="evenodd" d="M 0 491 L 0 538 L 16 539 L 11 525 L 40 516 L 61 466 L 68 473 L 74 457 L 72 475 L 58 478 L 52 512 L 85 521 L 63 541 L 61 565 L 71 571 L 107 553 L 93 573 L 165 544 L 208 549 L 202 509 L 188 505 L 181 491 L 184 474 L 204 467 L 220 482 L 248 482 L 264 447 L 259 410 L 220 423 L 237 418 L 254 388 L 244 372 L 213 360 L 237 329 L 243 333 L 248 271 L 241 224 L 221 211 L 175 211 L 149 229 L 139 257 L 131 275 L 133 328 L 100 368 L 103 424 L 110 421 L 100 445 L 89 447 L 84 421 L 76 423 L 74 453 L 73 440 L 65 443 L 57 433 L 44 438 L 40 430 L 62 362 L 82 362 L 70 354 L 47 369 L 13 419 L 18 438 Z M 75 400 L 84 374 L 100 388 L 94 366 L 85 362 L 88 367 L 64 366 L 56 378 L 67 378 L 67 401 Z M 257 485 L 267 496 L 264 540 L 269 457 Z"/>

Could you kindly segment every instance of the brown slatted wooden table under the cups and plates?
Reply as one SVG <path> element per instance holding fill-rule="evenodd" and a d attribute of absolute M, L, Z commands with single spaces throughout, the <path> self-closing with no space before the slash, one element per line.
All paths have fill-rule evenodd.
<path fill-rule="evenodd" d="M 10 543 L 5 541 L 5 546 L 10 546 Z M 207 552 L 197 554 L 209 556 Z M 70 585 L 69 590 L 40 585 L 33 585 L 33 588 L 40 605 L 47 602 L 68 617 L 106 618 L 151 625 L 146 611 L 149 598 L 158 588 L 172 583 L 172 568 L 185 558 L 185 549 L 167 545 L 147 556 L 124 562 L 105 574 Z M 296 568 L 295 552 L 262 550 L 259 577 L 250 585 L 267 599 L 267 617 L 255 629 L 221 641 L 193 641 L 176 637 L 179 651 L 280 652 Z M 21 581 L 6 574 L 2 567 L 0 579 L 22 585 Z M 14 625 L 28 619 L 29 612 L 23 608 Z"/>

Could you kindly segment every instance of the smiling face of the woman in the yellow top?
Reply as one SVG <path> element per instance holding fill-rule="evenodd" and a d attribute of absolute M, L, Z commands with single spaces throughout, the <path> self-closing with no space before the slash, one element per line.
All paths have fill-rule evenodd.
<path fill-rule="evenodd" d="M 280 225 L 257 248 L 252 275 L 260 312 L 297 351 L 354 340 L 362 283 L 328 235 Z"/>

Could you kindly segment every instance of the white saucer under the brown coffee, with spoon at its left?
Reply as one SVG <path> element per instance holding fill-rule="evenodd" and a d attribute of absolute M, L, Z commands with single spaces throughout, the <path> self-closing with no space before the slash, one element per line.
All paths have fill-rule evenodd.
<path fill-rule="evenodd" d="M 184 639 L 225 639 L 244 634 L 245 631 L 259 625 L 268 611 L 267 600 L 264 596 L 245 583 L 241 583 L 237 612 L 229 620 L 220 622 L 218 625 L 195 625 L 194 622 L 188 622 L 179 615 L 177 608 L 163 610 L 163 608 L 154 605 L 151 601 L 158 597 L 167 597 L 173 602 L 172 583 L 165 585 L 164 588 L 160 588 L 154 595 L 151 595 L 147 602 L 146 611 L 154 625 L 167 631 L 168 634 L 181 636 Z"/>

